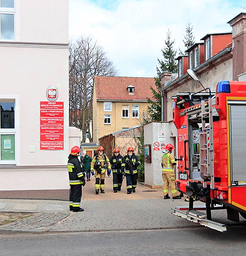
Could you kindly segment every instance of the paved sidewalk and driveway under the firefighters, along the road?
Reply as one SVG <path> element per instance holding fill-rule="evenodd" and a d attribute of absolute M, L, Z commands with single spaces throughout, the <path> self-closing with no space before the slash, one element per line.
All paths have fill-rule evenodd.
<path fill-rule="evenodd" d="M 2 212 L 32 212 L 32 217 L 0 226 L 0 233 L 13 232 L 71 232 L 107 230 L 148 230 L 198 225 L 171 214 L 172 207 L 188 206 L 182 200 L 164 200 L 162 190 L 138 184 L 136 193 L 112 191 L 112 178 L 105 179 L 105 194 L 95 194 L 94 178 L 83 188 L 81 207 L 84 212 L 70 212 L 68 201 L 0 199 Z M 195 202 L 201 205 L 200 202 Z M 232 224 L 226 211 L 212 212 L 213 220 Z M 243 220 L 243 219 L 242 219 Z"/>

